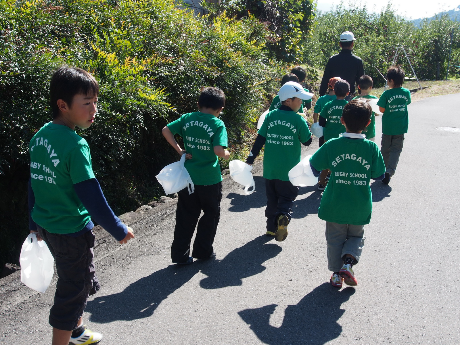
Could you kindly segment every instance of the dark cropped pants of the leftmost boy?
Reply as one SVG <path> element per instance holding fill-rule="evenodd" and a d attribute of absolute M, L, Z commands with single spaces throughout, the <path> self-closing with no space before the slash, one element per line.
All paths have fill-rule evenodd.
<path fill-rule="evenodd" d="M 94 234 L 90 230 L 78 237 L 70 237 L 53 234 L 38 226 L 37 229 L 56 261 L 58 278 L 50 325 L 73 331 L 86 308 L 86 299 L 100 289 L 92 261 Z"/>

